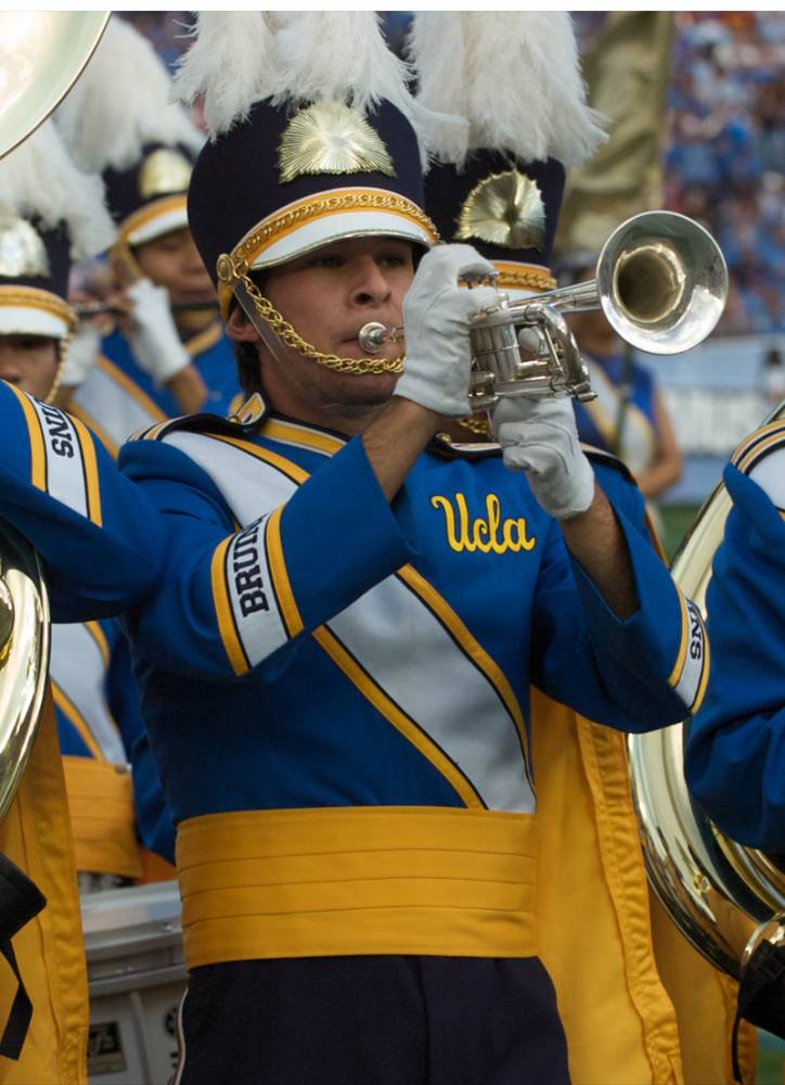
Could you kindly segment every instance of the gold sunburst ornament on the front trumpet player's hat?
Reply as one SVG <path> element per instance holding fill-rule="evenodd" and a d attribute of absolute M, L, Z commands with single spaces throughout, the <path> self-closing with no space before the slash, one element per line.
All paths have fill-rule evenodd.
<path fill-rule="evenodd" d="M 279 146 L 281 182 L 301 174 L 379 173 L 395 177 L 382 138 L 359 110 L 317 102 L 286 125 Z"/>

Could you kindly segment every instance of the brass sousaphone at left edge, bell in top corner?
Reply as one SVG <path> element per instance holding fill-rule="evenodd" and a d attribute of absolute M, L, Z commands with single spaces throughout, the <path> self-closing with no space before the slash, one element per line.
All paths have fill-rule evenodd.
<path fill-rule="evenodd" d="M 0 12 L 0 156 L 78 79 L 107 12 Z M 0 820 L 33 748 L 49 666 L 49 603 L 30 545 L 0 521 Z"/>

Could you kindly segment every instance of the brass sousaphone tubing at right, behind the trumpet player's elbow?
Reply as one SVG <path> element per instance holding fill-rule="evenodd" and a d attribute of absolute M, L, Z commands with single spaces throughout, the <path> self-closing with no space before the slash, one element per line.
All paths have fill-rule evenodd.
<path fill-rule="evenodd" d="M 785 418 L 783 401 L 767 421 Z M 721 483 L 673 560 L 673 578 L 705 613 L 711 561 L 731 499 Z M 685 727 L 628 739 L 632 791 L 649 882 L 682 934 L 711 963 L 741 979 L 762 939 L 780 941 L 785 870 L 732 840 L 690 795 L 684 780 Z"/>

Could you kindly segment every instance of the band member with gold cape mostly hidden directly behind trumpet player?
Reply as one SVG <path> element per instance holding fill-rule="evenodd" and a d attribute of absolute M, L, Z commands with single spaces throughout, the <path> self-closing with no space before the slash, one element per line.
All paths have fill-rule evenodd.
<path fill-rule="evenodd" d="M 554 49 L 559 35 L 564 41 Z M 497 284 L 511 301 L 555 288 L 550 263 L 564 163 L 587 157 L 599 136 L 595 118 L 582 104 L 575 52 L 567 60 L 568 44 L 563 16 L 414 15 L 411 52 L 420 101 L 469 122 L 466 145 L 449 130 L 432 138 L 437 161 L 425 177 L 426 210 L 445 240 L 466 241 L 493 263 Z M 538 77 L 532 85 L 538 46 L 542 63 L 553 65 L 554 55 L 561 58 L 554 77 L 562 80 L 564 97 L 550 123 L 548 84 Z M 507 49 L 520 63 L 505 79 L 500 103 L 498 71 Z M 472 429 L 479 430 L 480 421 L 472 419 Z M 463 424 L 450 429 L 452 454 L 487 456 L 492 446 L 479 443 L 479 434 L 462 432 Z M 648 538 L 645 502 L 627 467 L 608 451 L 582 447 L 614 506 Z M 542 814 L 540 956 L 556 988 L 571 1078 L 604 1085 L 668 1081 L 680 1065 L 691 1085 L 719 1085 L 730 1072 L 725 1038 L 732 1018 L 724 1007 L 732 999 L 724 988 L 731 981 L 681 936 L 662 937 L 672 924 L 649 899 L 621 736 L 536 689 L 531 732 Z M 582 917 L 578 926 L 576 912 Z M 575 968 L 578 955 L 585 965 L 581 969 Z M 687 976 L 694 994 L 686 1012 L 671 990 L 670 970 L 664 967 L 665 974 L 658 974 L 660 958 Z M 601 999 L 599 984 L 606 992 Z M 608 1016 L 616 1022 L 612 1031 L 604 1027 Z"/>

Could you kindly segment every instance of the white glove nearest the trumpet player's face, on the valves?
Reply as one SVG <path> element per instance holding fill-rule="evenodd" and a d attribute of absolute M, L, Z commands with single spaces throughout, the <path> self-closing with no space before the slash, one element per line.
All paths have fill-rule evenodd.
<path fill-rule="evenodd" d="M 499 294 L 491 286 L 466 290 L 458 280 L 493 272 L 493 265 L 471 245 L 437 245 L 423 257 L 403 298 L 407 360 L 397 396 L 438 414 L 472 413 L 469 321 L 480 309 L 497 305 Z"/>

